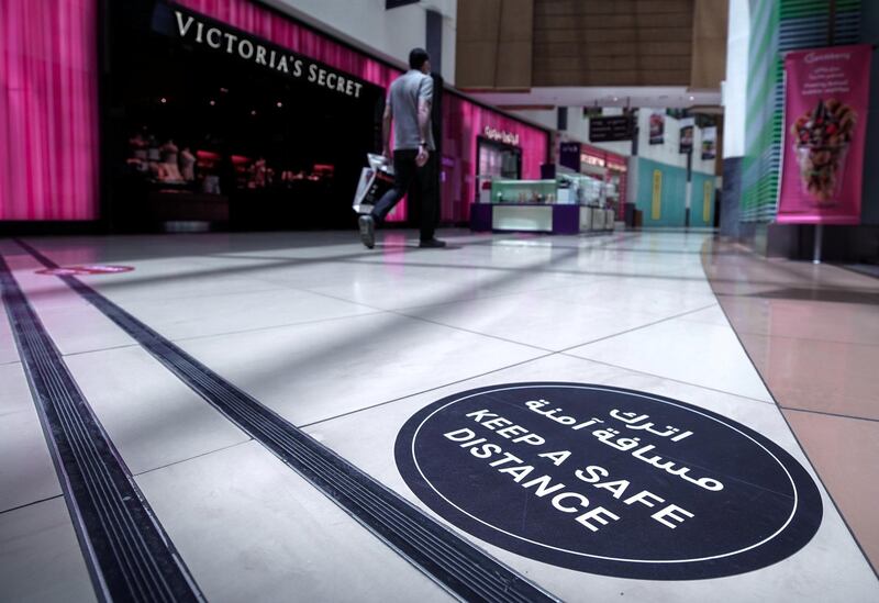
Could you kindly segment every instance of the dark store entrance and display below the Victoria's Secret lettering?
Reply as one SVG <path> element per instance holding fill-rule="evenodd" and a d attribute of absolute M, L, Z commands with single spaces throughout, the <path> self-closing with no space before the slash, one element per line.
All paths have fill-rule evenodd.
<path fill-rule="evenodd" d="M 113 3 L 110 3 L 113 4 Z M 116 230 L 347 228 L 381 89 L 358 97 L 187 43 L 111 10 L 109 212 Z"/>

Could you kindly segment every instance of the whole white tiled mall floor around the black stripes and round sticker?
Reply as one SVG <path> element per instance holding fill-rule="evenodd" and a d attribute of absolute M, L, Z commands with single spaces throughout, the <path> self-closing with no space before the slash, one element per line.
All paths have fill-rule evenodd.
<path fill-rule="evenodd" d="M 716 305 L 701 265 L 706 236 L 459 232 L 450 249 L 419 250 L 391 232 L 372 252 L 353 233 L 31 243 L 58 264 L 133 266 L 84 280 L 421 505 L 393 461 L 400 426 L 443 395 L 511 381 L 683 400 L 760 432 L 811 471 Z M 34 275 L 33 259 L 9 242 L 0 252 L 210 600 L 447 598 L 57 279 Z M 0 323 L 0 600 L 88 600 L 63 499 L 44 501 L 59 489 Z M 822 495 L 824 520 L 805 548 L 723 579 L 624 580 L 477 544 L 569 601 L 879 600 Z M 31 560 L 48 560 L 57 584 L 35 580 Z"/>

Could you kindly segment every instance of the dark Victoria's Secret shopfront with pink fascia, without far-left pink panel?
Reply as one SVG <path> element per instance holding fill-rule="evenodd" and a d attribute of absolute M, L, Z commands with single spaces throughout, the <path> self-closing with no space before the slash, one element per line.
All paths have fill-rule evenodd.
<path fill-rule="evenodd" d="M 366 154 L 380 148 L 393 66 L 249 0 L 107 3 L 103 210 L 116 230 L 353 226 Z M 447 90 L 438 122 L 442 219 L 466 222 L 486 133 L 521 177 L 548 134 Z M 391 220 L 405 222 L 401 203 Z"/>

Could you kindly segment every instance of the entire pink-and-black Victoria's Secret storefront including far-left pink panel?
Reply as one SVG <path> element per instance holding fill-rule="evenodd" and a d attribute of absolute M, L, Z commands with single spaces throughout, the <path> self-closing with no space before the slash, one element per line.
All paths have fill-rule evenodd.
<path fill-rule="evenodd" d="M 397 67 L 252 0 L 9 0 L 4 19 L 0 222 L 351 224 Z M 539 177 L 546 131 L 448 88 L 435 122 L 444 222 L 468 220 L 479 161 Z"/>

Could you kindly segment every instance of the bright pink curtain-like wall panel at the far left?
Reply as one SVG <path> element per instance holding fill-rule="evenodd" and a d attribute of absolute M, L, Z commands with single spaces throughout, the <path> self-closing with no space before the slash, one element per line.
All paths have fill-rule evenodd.
<path fill-rule="evenodd" d="M 0 0 L 0 220 L 98 217 L 96 0 Z"/>

